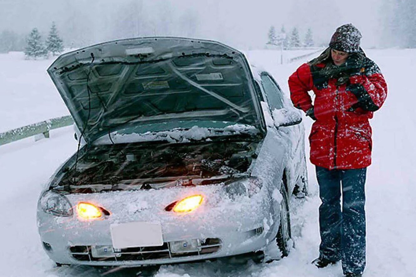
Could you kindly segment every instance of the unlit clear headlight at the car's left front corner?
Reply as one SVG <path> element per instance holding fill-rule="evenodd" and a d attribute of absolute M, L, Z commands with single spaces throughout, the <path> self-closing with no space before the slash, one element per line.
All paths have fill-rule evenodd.
<path fill-rule="evenodd" d="M 68 199 L 53 191 L 45 191 L 40 198 L 40 206 L 45 213 L 54 216 L 72 216 L 72 206 Z"/>

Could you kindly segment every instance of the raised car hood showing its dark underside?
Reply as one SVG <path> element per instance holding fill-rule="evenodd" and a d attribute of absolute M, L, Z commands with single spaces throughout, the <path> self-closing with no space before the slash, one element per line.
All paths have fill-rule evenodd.
<path fill-rule="evenodd" d="M 218 42 L 105 42 L 59 56 L 47 72 L 87 143 L 121 128 L 187 120 L 241 123 L 264 132 L 247 60 Z"/>

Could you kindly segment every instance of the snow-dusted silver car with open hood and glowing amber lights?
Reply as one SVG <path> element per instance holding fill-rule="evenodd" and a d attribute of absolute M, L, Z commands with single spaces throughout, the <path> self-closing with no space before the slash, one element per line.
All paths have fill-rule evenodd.
<path fill-rule="evenodd" d="M 79 130 L 37 205 L 57 265 L 288 254 L 290 198 L 307 194 L 302 117 L 241 51 L 122 39 L 62 54 L 47 72 Z"/>

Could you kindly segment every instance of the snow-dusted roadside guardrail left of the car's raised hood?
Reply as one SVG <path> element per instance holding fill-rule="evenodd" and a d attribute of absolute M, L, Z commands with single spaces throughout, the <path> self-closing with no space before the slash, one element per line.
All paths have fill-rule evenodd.
<path fill-rule="evenodd" d="M 73 123 L 74 120 L 72 119 L 72 116 L 66 115 L 13 129 L 4 133 L 0 133 L 0 145 L 39 134 L 43 134 L 44 137 L 49 137 L 49 130 L 69 126 Z"/>

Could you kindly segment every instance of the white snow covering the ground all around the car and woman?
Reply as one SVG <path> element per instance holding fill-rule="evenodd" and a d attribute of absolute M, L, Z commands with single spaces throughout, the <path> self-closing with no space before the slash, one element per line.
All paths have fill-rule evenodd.
<path fill-rule="evenodd" d="M 366 50 L 386 77 L 386 103 L 371 120 L 373 164 L 366 183 L 367 267 L 365 277 L 416 276 L 416 101 L 409 83 L 416 72 L 414 50 Z M 287 78 L 303 61 L 280 65 L 280 51 L 246 52 L 250 62 L 275 76 L 287 93 Z M 303 53 L 285 53 L 285 58 Z M 0 132 L 69 114 L 46 69 L 52 60 L 26 61 L 22 53 L 0 54 Z M 409 104 L 406 104 L 409 103 Z M 309 133 L 311 121 L 304 118 Z M 310 196 L 292 199 L 295 249 L 280 261 L 258 265 L 226 260 L 140 268 L 115 272 L 90 267 L 54 267 L 42 249 L 36 227 L 36 204 L 42 187 L 59 164 L 76 151 L 72 127 L 53 130 L 51 138 L 33 137 L 0 146 L 0 276 L 142 276 L 155 277 L 338 277 L 340 263 L 318 270 L 310 264 L 318 255 L 317 183 L 309 163 Z M 307 145 L 309 147 L 309 145 Z M 140 273 L 141 272 L 141 273 Z"/>

